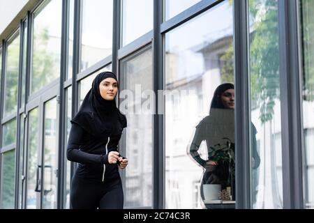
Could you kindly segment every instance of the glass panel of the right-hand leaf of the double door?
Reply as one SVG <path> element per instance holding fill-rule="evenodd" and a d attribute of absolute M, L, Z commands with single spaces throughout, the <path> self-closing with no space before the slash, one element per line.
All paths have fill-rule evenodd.
<path fill-rule="evenodd" d="M 44 138 L 44 169 L 43 169 L 43 208 L 57 208 L 57 177 L 58 146 L 57 146 L 57 99 L 45 103 L 45 138 Z"/>

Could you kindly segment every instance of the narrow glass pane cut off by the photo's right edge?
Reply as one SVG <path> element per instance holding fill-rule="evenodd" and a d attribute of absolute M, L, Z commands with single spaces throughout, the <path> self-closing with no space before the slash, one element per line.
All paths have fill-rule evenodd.
<path fill-rule="evenodd" d="M 314 208 L 314 1 L 302 0 L 303 34 L 303 128 L 305 141 L 304 197 L 306 208 Z"/>

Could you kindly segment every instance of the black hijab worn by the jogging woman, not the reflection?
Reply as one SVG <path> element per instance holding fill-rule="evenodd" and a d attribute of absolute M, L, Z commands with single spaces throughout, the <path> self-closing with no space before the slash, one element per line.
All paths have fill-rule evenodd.
<path fill-rule="evenodd" d="M 105 100 L 100 95 L 99 84 L 109 77 L 118 82 L 113 72 L 100 72 L 95 77 L 79 112 L 71 120 L 71 123 L 80 125 L 89 134 L 96 137 L 101 137 L 104 134 L 119 134 L 123 128 L 126 128 L 126 116 L 121 114 L 117 108 L 116 101 Z"/>

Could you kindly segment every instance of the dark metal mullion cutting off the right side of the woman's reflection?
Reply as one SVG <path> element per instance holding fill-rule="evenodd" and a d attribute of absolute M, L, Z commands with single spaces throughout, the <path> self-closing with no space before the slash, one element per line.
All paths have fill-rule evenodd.
<path fill-rule="evenodd" d="M 248 75 L 248 1 L 233 1 L 236 208 L 251 208 L 250 105 Z"/>

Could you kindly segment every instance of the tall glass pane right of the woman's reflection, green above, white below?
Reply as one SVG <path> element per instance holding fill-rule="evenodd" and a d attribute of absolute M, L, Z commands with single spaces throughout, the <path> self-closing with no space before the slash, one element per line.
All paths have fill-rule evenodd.
<path fill-rule="evenodd" d="M 283 208 L 278 1 L 249 2 L 253 208 Z"/>

